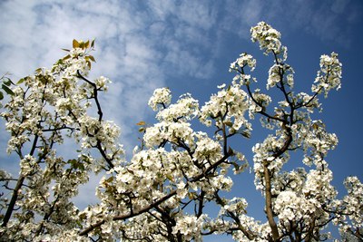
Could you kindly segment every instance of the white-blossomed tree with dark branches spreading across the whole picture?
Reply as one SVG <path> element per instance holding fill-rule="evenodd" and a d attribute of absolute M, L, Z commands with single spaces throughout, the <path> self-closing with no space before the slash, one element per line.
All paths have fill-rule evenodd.
<path fill-rule="evenodd" d="M 255 88 L 256 60 L 242 53 L 231 63 L 231 84 L 219 86 L 201 107 L 189 93 L 171 103 L 169 89 L 155 90 L 149 105 L 158 122 L 138 123 L 142 143 L 128 161 L 119 128 L 103 119 L 99 95 L 110 81 L 87 77 L 93 42 L 74 40 L 52 69 L 38 69 L 16 85 L 6 82 L 10 101 L 1 116 L 11 135 L 7 152 L 17 155 L 20 172 L 0 171 L 2 240 L 201 241 L 228 234 L 237 241 L 320 241 L 334 224 L 345 239 L 361 241 L 363 186 L 349 177 L 348 195 L 337 198 L 325 157 L 338 139 L 310 116 L 320 110 L 319 96 L 340 87 L 338 54 L 320 57 L 310 93 L 293 92 L 294 71 L 280 33 L 263 22 L 250 33 L 272 58 L 266 87 L 277 89 L 280 100 Z M 250 216 L 245 198 L 223 197 L 233 184 L 231 172 L 242 176 L 247 167 L 231 138 L 250 137 L 256 116 L 268 133 L 252 149 L 265 222 Z M 194 131 L 193 119 L 214 135 Z M 78 144 L 74 159 L 56 151 L 67 139 Z M 283 169 L 292 150 L 302 155 L 299 168 Z M 92 172 L 103 174 L 100 202 L 80 210 L 72 198 Z M 207 204 L 220 209 L 216 218 L 205 212 Z"/>

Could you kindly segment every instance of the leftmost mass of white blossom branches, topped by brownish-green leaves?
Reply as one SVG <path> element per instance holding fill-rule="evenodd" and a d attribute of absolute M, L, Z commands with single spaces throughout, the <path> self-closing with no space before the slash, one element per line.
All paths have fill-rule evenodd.
<path fill-rule="evenodd" d="M 40 68 L 21 79 L 1 112 L 10 133 L 7 152 L 15 152 L 20 160 L 17 183 L 12 183 L 12 175 L 6 178 L 7 188 L 14 190 L 8 194 L 16 202 L 2 199 L 2 208 L 13 217 L 2 216 L 0 234 L 8 240 L 78 237 L 73 229 L 80 224 L 79 209 L 73 198 L 79 186 L 88 181 L 91 170 L 122 160 L 123 149 L 116 142 L 119 129 L 103 121 L 100 111 L 98 118 L 88 114 L 91 102 L 98 102 L 96 92 L 106 90 L 109 81 L 86 79 L 93 46 L 81 43 L 74 41 L 74 49 L 52 69 Z M 65 159 L 54 149 L 69 138 L 81 143 L 74 147 L 74 153 L 79 150 L 75 159 Z M 91 148 L 101 151 L 99 159 L 90 155 Z"/>

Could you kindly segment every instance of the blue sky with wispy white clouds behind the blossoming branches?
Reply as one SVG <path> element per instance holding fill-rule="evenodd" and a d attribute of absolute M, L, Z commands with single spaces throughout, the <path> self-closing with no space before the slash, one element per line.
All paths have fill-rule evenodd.
<path fill-rule="evenodd" d="M 250 26 L 260 21 L 282 34 L 288 62 L 296 72 L 297 91 L 309 92 L 319 56 L 334 51 L 343 63 L 342 88 L 322 101 L 324 111 L 317 117 L 339 138 L 328 157 L 334 185 L 344 192 L 341 184 L 348 175 L 363 180 L 362 1 L 5 0 L 0 2 L 0 13 L 0 74 L 13 73 L 15 80 L 40 66 L 50 67 L 74 38 L 96 39 L 97 63 L 91 76 L 113 80 L 103 96 L 104 117 L 122 127 L 129 150 L 137 144 L 135 123 L 153 122 L 146 104 L 157 87 L 170 87 L 174 98 L 191 92 L 204 103 L 217 92 L 218 84 L 231 82 L 230 63 L 247 52 L 257 59 L 255 75 L 264 90 L 272 59 L 250 42 Z M 5 158 L 3 134 L 4 125 L 0 167 L 15 170 L 10 165 L 14 161 Z M 235 147 L 248 155 L 253 141 L 264 136 L 258 131 Z M 237 179 L 239 188 L 241 182 L 252 180 Z M 258 199 L 260 195 L 253 192 L 250 198 Z"/>

